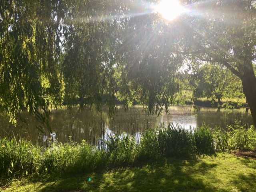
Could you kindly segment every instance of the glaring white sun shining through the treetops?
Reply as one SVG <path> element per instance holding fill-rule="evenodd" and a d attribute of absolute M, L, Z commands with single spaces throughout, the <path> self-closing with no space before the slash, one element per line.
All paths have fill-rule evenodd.
<path fill-rule="evenodd" d="M 178 0 L 162 0 L 155 6 L 156 12 L 167 20 L 174 20 L 186 10 L 179 4 Z"/>

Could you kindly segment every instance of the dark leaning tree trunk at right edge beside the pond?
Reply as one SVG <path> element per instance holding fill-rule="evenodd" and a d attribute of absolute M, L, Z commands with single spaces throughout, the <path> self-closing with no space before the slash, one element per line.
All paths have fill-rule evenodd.
<path fill-rule="evenodd" d="M 253 70 L 247 70 L 240 76 L 244 95 L 248 102 L 254 125 L 256 126 L 256 77 Z"/>

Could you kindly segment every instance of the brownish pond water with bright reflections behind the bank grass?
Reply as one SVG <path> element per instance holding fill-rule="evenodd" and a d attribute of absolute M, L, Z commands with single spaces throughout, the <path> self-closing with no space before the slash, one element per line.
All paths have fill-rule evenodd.
<path fill-rule="evenodd" d="M 188 129 L 198 128 L 203 123 L 208 124 L 211 128 L 226 127 L 234 124 L 238 119 L 242 124 L 252 124 L 250 113 L 245 113 L 245 109 L 234 109 L 231 113 L 227 110 L 201 107 L 196 115 L 191 106 L 170 106 L 169 113 L 162 113 L 161 116 L 146 115 L 142 112 L 142 106 L 132 106 L 125 112 L 122 106 L 118 107 L 118 114 L 114 120 L 108 118 L 108 109 L 103 108 L 102 114 L 91 112 L 88 109 L 79 109 L 74 107 L 71 110 L 52 110 L 50 116 L 50 125 L 53 134 L 46 132 L 40 133 L 36 129 L 38 122 L 33 116 L 23 114 L 28 126 L 18 120 L 16 127 L 12 126 L 4 116 L 0 116 L 0 138 L 16 138 L 20 140 L 25 138 L 33 144 L 47 146 L 49 139 L 57 142 L 68 142 L 72 140 L 80 143 L 82 140 L 90 144 L 101 146 L 103 140 L 108 138 L 108 134 L 118 134 L 126 132 L 136 136 L 139 142 L 141 133 L 150 127 L 164 124 L 180 124 Z"/>

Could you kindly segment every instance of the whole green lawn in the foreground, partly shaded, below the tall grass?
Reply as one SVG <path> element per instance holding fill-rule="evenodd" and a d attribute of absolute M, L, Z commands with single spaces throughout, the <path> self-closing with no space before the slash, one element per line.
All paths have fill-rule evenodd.
<path fill-rule="evenodd" d="M 88 178 L 91 178 L 88 181 Z M 5 186 L 6 188 L 6 186 Z M 2 188 L 3 190 L 4 188 Z M 198 160 L 162 159 L 133 167 L 47 180 L 14 180 L 4 192 L 256 191 L 256 160 L 230 154 Z"/>

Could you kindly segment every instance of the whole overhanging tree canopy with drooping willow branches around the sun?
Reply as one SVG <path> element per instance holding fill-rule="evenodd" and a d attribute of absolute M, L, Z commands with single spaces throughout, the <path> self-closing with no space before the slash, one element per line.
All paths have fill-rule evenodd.
<path fill-rule="evenodd" d="M 208 63 L 242 80 L 256 122 L 255 1 L 180 0 L 188 12 L 172 21 L 157 3 L 0 0 L 0 111 L 15 122 L 28 110 L 49 129 L 49 106 L 64 100 L 99 111 L 104 102 L 110 116 L 116 98 L 136 100 L 158 113 L 182 66 Z"/>

